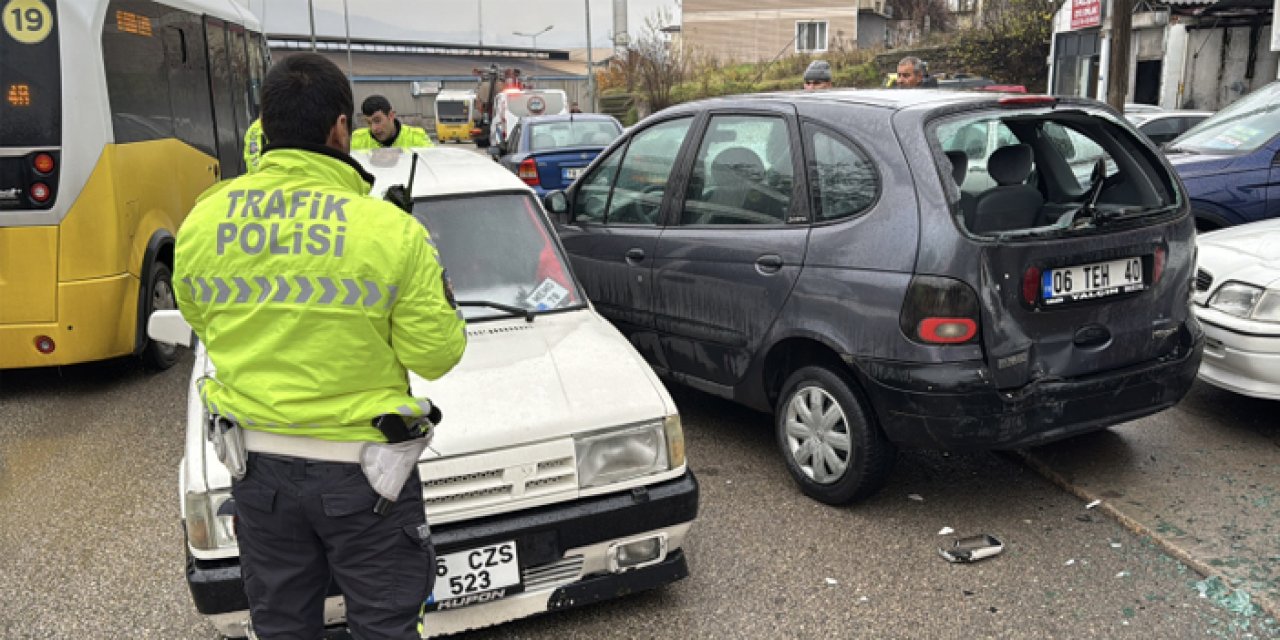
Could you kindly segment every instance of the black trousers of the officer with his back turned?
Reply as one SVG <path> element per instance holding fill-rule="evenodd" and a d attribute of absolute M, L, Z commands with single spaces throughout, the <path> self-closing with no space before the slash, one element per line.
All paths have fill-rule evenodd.
<path fill-rule="evenodd" d="M 330 577 L 360 640 L 420 637 L 435 553 L 417 471 L 390 511 L 360 465 L 250 453 L 232 486 L 241 571 L 253 632 L 270 640 L 324 635 Z"/>

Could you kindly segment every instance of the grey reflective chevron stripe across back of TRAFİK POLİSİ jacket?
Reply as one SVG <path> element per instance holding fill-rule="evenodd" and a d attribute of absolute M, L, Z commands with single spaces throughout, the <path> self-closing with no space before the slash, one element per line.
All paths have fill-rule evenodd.
<path fill-rule="evenodd" d="M 296 302 L 343 307 L 390 308 L 399 294 L 394 284 L 380 285 L 374 280 L 355 278 L 328 278 L 255 275 L 242 278 L 183 278 L 191 297 L 198 302 L 216 305 L 261 305 L 270 302 Z"/>

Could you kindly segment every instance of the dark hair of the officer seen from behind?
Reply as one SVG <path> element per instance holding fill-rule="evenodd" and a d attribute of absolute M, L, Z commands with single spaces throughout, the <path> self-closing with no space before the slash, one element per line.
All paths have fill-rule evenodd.
<path fill-rule="evenodd" d="M 262 81 L 262 133 L 273 145 L 324 145 L 339 115 L 351 116 L 351 84 L 319 54 L 294 54 L 271 65 Z"/>

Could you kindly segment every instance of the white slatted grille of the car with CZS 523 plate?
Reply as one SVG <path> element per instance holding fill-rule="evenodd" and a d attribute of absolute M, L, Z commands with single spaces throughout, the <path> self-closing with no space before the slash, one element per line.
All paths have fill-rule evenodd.
<path fill-rule="evenodd" d="M 419 466 L 431 522 L 447 522 L 557 502 L 577 494 L 573 442 L 539 443 Z M 454 517 L 449 517 L 454 516 Z"/>

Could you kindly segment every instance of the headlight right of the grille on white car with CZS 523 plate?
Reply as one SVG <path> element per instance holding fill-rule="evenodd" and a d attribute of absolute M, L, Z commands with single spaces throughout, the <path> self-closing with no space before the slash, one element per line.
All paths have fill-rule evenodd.
<path fill-rule="evenodd" d="M 680 416 L 580 435 L 573 447 L 577 485 L 582 489 L 660 474 L 685 463 Z"/>

